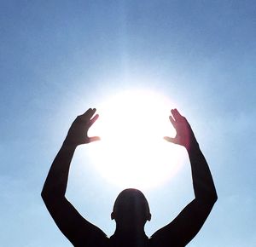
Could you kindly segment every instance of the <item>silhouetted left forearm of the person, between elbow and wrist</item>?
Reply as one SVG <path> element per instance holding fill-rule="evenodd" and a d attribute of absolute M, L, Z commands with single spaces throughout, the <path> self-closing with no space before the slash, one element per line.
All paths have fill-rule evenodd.
<path fill-rule="evenodd" d="M 65 196 L 68 172 L 76 146 L 67 145 L 64 141 L 49 169 L 42 191 L 42 198 L 60 198 Z"/>

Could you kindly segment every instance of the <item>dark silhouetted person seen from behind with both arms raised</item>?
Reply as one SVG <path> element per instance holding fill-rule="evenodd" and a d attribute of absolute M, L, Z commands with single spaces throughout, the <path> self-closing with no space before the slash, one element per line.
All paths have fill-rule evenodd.
<path fill-rule="evenodd" d="M 195 199 L 171 223 L 148 238 L 144 233 L 144 225 L 151 219 L 148 201 L 137 189 L 126 189 L 119 193 L 114 203 L 111 218 L 116 221 L 116 230 L 108 238 L 101 229 L 79 215 L 68 202 L 65 197 L 67 178 L 76 147 L 100 140 L 97 136 L 87 135 L 88 129 L 98 118 L 97 114 L 94 116 L 95 112 L 96 109 L 89 109 L 75 119 L 44 183 L 42 198 L 56 225 L 74 246 L 171 247 L 188 244 L 206 221 L 217 200 L 217 193 L 195 135 L 186 118 L 176 109 L 171 111 L 172 116 L 169 118 L 177 135 L 174 138 L 164 138 L 186 148 L 191 164 Z"/>

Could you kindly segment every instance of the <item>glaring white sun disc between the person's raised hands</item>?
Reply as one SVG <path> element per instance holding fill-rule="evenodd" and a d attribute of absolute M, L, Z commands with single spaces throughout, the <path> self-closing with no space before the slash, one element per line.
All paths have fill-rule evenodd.
<path fill-rule="evenodd" d="M 167 181 L 183 163 L 183 148 L 163 140 L 175 135 L 168 116 L 173 103 L 153 91 L 126 90 L 102 101 L 90 135 L 96 169 L 119 187 L 148 189 Z"/>

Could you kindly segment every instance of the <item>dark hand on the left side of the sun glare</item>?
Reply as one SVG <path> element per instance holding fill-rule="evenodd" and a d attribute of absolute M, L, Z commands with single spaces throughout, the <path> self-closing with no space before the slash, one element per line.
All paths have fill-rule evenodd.
<path fill-rule="evenodd" d="M 96 109 L 88 109 L 84 114 L 79 115 L 68 130 L 67 137 L 64 141 L 65 144 L 70 146 L 79 146 L 81 144 L 89 143 L 92 141 L 99 141 L 99 136 L 89 137 L 87 132 L 90 126 L 95 123 L 99 115 L 96 114 Z"/>

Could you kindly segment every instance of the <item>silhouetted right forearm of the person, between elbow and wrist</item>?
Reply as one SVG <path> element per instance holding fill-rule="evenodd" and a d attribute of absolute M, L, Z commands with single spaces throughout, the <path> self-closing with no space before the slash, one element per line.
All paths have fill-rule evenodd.
<path fill-rule="evenodd" d="M 191 164 L 195 198 L 214 204 L 217 200 L 217 192 L 207 160 L 202 154 L 197 141 L 193 141 L 187 150 Z"/>

